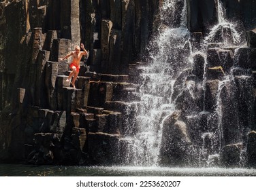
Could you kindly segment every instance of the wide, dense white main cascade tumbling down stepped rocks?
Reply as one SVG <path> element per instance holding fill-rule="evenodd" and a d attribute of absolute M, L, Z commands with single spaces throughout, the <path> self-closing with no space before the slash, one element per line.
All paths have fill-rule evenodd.
<path fill-rule="evenodd" d="M 140 97 L 144 111 L 135 114 L 137 130 L 131 135 L 131 144 L 127 151 L 129 163 L 135 166 L 156 166 L 161 145 L 163 119 L 170 115 L 175 107 L 171 100 L 174 79 L 182 69 L 187 67 L 187 54 L 190 54 L 189 31 L 182 27 L 186 23 L 185 1 L 164 1 L 161 8 L 161 19 L 168 16 L 170 23 L 179 22 L 178 27 L 170 28 L 164 22 L 163 31 L 153 42 L 150 57 L 153 62 L 142 67 L 143 83 Z M 182 10 L 182 14 L 177 14 Z M 157 52 L 154 52 L 157 50 Z"/>

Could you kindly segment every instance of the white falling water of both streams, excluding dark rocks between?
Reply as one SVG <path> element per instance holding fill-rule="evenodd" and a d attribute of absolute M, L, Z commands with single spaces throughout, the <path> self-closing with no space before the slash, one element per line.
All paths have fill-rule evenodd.
<path fill-rule="evenodd" d="M 127 161 L 125 164 L 132 166 L 158 166 L 161 138 L 163 136 L 163 121 L 168 115 L 176 110 L 176 99 L 180 94 L 174 93 L 174 83 L 182 71 L 193 67 L 193 56 L 200 54 L 204 58 L 204 76 L 202 88 L 204 90 L 204 107 L 201 113 L 205 114 L 205 92 L 206 92 L 206 70 L 208 68 L 207 49 L 209 43 L 221 43 L 221 47 L 229 47 L 241 42 L 240 33 L 237 31 L 235 23 L 225 19 L 225 9 L 220 1 L 217 1 L 218 23 L 210 29 L 210 32 L 200 45 L 199 50 L 192 50 L 191 37 L 187 30 L 187 9 L 186 1 L 169 0 L 164 1 L 161 8 L 161 20 L 163 24 L 159 28 L 159 36 L 150 45 L 150 58 L 152 62 L 140 69 L 142 73 L 142 86 L 140 97 L 143 107 L 142 112 L 136 112 L 136 126 L 138 130 L 133 140 L 129 143 L 127 150 Z M 180 14 L 178 14 L 180 13 Z M 166 21 L 167 20 L 167 21 Z M 178 20 L 178 21 L 177 21 Z M 169 23 L 169 24 L 167 24 Z M 221 37 L 216 36 L 221 33 Z M 195 52 L 193 52 L 195 51 Z M 212 160 L 219 159 L 219 152 L 223 148 L 223 126 L 221 91 L 226 83 L 234 77 L 225 73 L 225 79 L 219 82 L 217 90 L 217 104 L 214 113 L 208 115 L 208 120 L 217 119 L 217 126 L 203 132 L 202 147 L 197 150 L 199 160 L 204 160 L 205 164 L 198 166 L 212 166 Z M 180 93 L 187 90 L 193 97 L 193 83 L 187 83 Z M 176 98 L 174 98 L 176 97 Z M 192 115 L 191 117 L 195 117 Z M 206 139 L 210 140 L 209 148 L 205 149 Z M 200 145 L 201 146 L 201 145 Z M 204 153 L 204 151 L 206 151 Z M 213 165 L 214 166 L 214 165 Z"/>

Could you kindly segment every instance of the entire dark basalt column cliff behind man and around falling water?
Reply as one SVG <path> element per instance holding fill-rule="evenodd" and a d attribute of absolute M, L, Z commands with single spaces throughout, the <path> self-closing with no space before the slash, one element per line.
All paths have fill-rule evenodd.
<path fill-rule="evenodd" d="M 235 48 L 221 45 L 226 38 L 219 33 L 208 43 L 206 58 L 195 54 L 193 68 L 174 72 L 176 81 L 170 99 L 175 101 L 180 115 L 177 121 L 164 120 L 165 144 L 161 145 L 160 164 L 191 164 L 192 151 L 198 151 L 202 145 L 206 154 L 221 147 L 217 162 L 227 167 L 238 166 L 242 148 L 247 147 L 246 164 L 255 166 L 256 5 L 253 0 L 221 2 L 227 17 L 239 19 L 244 33 L 247 31 L 244 38 L 248 45 L 236 52 Z M 139 130 L 135 117 L 143 104 L 140 90 L 145 83 L 143 67 L 150 62 L 148 44 L 159 28 L 178 26 L 182 19 L 177 16 L 175 23 L 165 20 L 161 24 L 159 12 L 163 3 L 1 1 L 0 160 L 29 164 L 130 164 L 132 158 L 125 154 L 130 142 L 124 137 Z M 218 22 L 218 7 L 214 0 L 180 0 L 176 9 L 181 11 L 184 5 L 191 50 L 199 50 L 209 27 Z M 231 33 L 225 26 L 219 30 L 225 31 L 226 36 Z M 89 57 L 80 62 L 74 89 L 65 81 L 70 60 L 59 58 L 79 43 L 84 43 Z M 184 48 L 178 55 L 187 52 Z M 170 57 L 169 61 L 177 66 L 183 63 L 181 58 Z M 231 70 L 234 65 L 237 68 Z M 223 84 L 231 71 L 234 80 Z M 186 90 L 188 86 L 190 89 Z M 217 104 L 221 106 L 221 118 L 212 114 Z M 161 119 L 166 115 L 161 115 Z M 220 145 L 214 145 L 211 136 L 212 130 L 219 127 L 218 121 L 223 134 L 214 134 L 221 136 Z M 140 156 L 144 155 L 145 152 Z"/>

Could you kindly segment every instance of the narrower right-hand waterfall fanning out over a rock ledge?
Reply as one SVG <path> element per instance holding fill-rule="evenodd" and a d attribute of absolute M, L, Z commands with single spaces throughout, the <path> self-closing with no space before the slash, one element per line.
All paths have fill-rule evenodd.
<path fill-rule="evenodd" d="M 208 43 L 220 43 L 219 47 L 223 48 L 223 50 L 228 49 L 229 47 L 235 47 L 235 45 L 241 43 L 241 33 L 238 32 L 238 25 L 237 23 L 234 22 L 229 22 L 225 18 L 225 8 L 223 7 L 223 3 L 221 1 L 217 0 L 216 1 L 217 5 L 217 16 L 218 16 L 218 23 L 210 29 L 210 33 L 205 37 L 204 39 L 204 45 L 207 50 L 207 45 Z M 219 35 L 221 34 L 221 35 Z M 236 54 L 237 50 L 234 48 L 234 53 Z M 219 57 L 220 58 L 220 57 Z M 235 62 L 235 60 L 234 60 Z M 227 64 L 227 56 L 222 60 L 222 64 L 225 65 Z M 207 59 L 205 62 L 205 65 L 208 65 Z M 235 65 L 235 63 L 234 63 Z M 204 156 L 206 156 L 206 166 L 219 166 L 219 159 L 220 158 L 220 153 L 221 150 L 225 145 L 228 145 L 229 139 L 227 138 L 227 134 L 224 134 L 225 131 L 227 132 L 227 123 L 223 123 L 223 121 L 230 119 L 234 121 L 230 121 L 230 126 L 229 128 L 233 127 L 232 123 L 236 123 L 236 128 L 234 130 L 237 130 L 236 136 L 233 136 L 234 140 L 232 141 L 233 143 L 238 143 L 242 142 L 242 135 L 240 134 L 240 124 L 239 121 L 236 121 L 236 116 L 233 116 L 233 118 L 227 118 L 227 113 L 224 114 L 225 111 L 223 109 L 227 109 L 229 106 L 228 104 L 235 104 L 236 102 L 232 102 L 232 100 L 235 98 L 235 91 L 236 91 L 236 83 L 233 75 L 233 68 L 234 65 L 231 67 L 230 71 L 225 71 L 225 76 L 223 79 L 219 80 L 219 84 L 217 86 L 217 94 L 216 94 L 216 105 L 214 112 L 211 113 L 208 116 L 208 119 L 212 119 L 217 121 L 215 125 L 210 125 L 213 126 L 210 128 L 210 132 L 206 132 L 203 134 L 203 140 L 206 136 L 206 134 L 211 134 L 210 135 L 210 145 L 211 147 L 207 149 L 208 153 L 206 153 Z M 228 90 L 226 89 L 228 88 Z M 228 94 L 225 94 L 227 93 Z M 227 100 L 227 98 L 231 98 L 231 100 Z M 205 96 L 204 96 L 205 97 Z M 224 100 L 223 100 L 224 99 Z M 205 102 L 204 98 L 204 102 Z M 231 109 L 236 109 L 230 110 L 234 113 L 238 113 L 238 108 L 236 106 L 233 106 Z M 209 124 L 209 123 L 208 123 Z M 224 126 L 225 125 L 225 126 Z M 204 144 L 204 143 L 203 143 Z M 201 148 L 202 151 L 204 151 L 204 145 Z M 210 150 L 210 151 L 209 151 Z M 243 154 L 244 150 L 241 151 L 241 155 Z M 240 160 L 244 159 L 244 156 Z M 242 161 L 240 161 L 242 162 Z"/>

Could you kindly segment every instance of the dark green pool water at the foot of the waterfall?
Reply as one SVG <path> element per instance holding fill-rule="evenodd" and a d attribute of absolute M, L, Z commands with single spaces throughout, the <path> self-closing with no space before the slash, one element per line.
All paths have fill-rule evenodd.
<path fill-rule="evenodd" d="M 256 176 L 246 168 L 32 166 L 0 164 L 0 176 Z"/>

